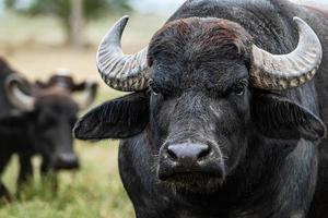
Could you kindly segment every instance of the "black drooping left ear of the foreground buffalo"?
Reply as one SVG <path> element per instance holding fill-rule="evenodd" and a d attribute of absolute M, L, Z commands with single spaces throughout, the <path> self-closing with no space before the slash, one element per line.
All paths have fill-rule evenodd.
<path fill-rule="evenodd" d="M 133 93 L 107 101 L 82 117 L 74 126 L 80 140 L 127 138 L 139 134 L 149 122 L 149 97 Z"/>

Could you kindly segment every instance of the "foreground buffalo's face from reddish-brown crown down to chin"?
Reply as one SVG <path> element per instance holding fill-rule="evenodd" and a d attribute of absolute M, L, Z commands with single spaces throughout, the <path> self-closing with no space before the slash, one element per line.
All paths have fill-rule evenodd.
<path fill-rule="evenodd" d="M 246 36 L 233 23 L 188 19 L 168 24 L 152 39 L 150 105 L 157 173 L 178 189 L 215 191 L 245 150 L 250 95 L 241 38 L 246 41 Z M 167 149 L 180 144 L 186 150 L 198 145 L 208 150 L 199 160 L 174 161 Z"/>

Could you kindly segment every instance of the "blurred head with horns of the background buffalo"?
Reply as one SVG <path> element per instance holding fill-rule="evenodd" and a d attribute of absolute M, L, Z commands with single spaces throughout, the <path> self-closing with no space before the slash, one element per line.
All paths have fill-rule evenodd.
<path fill-rule="evenodd" d="M 78 111 L 94 100 L 96 84 L 92 81 L 77 84 L 62 71 L 47 82 L 35 84 L 13 73 L 5 80 L 5 92 L 21 111 L 13 125 L 28 124 L 28 137 L 44 158 L 44 170 L 78 168 L 71 132 Z M 74 97 L 75 93 L 82 97 Z"/>

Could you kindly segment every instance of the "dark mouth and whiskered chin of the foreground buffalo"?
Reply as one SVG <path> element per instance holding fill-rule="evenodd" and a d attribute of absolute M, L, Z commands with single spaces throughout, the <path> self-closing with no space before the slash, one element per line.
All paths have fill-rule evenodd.
<path fill-rule="evenodd" d="M 222 185 L 222 175 L 204 172 L 177 172 L 162 180 L 178 193 L 210 194 Z"/>

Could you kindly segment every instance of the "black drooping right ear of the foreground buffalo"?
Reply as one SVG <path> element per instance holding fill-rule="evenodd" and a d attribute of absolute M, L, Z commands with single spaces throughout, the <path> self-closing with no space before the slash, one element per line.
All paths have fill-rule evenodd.
<path fill-rule="evenodd" d="M 254 98 L 251 117 L 266 136 L 282 140 L 319 140 L 326 135 L 324 122 L 288 98 L 262 95 Z"/>

